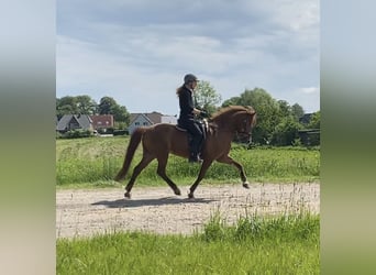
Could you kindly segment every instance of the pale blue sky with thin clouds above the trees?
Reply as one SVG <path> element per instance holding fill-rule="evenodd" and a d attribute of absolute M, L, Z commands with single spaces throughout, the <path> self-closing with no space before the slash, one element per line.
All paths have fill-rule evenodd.
<path fill-rule="evenodd" d="M 177 114 L 187 73 L 320 110 L 318 0 L 57 0 L 56 97 Z"/>

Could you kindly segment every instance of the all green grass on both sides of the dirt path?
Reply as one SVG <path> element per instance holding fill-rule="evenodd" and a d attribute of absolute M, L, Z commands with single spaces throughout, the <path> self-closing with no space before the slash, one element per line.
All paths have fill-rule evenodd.
<path fill-rule="evenodd" d="M 57 188 L 107 187 L 120 169 L 129 138 L 56 141 Z M 131 169 L 141 160 L 136 151 Z M 302 147 L 257 147 L 233 144 L 251 183 L 319 182 L 320 151 Z M 170 155 L 167 174 L 178 185 L 191 184 L 198 165 Z M 128 175 L 128 178 L 130 175 Z M 126 178 L 126 179 L 128 179 Z M 125 180 L 126 180 L 125 179 Z M 234 167 L 214 163 L 202 184 L 240 182 Z M 137 185 L 166 185 L 156 162 Z M 57 274 L 319 274 L 320 217 L 297 213 L 240 218 L 229 226 L 214 215 L 203 232 L 158 235 L 109 232 L 93 238 L 57 239 Z"/>

